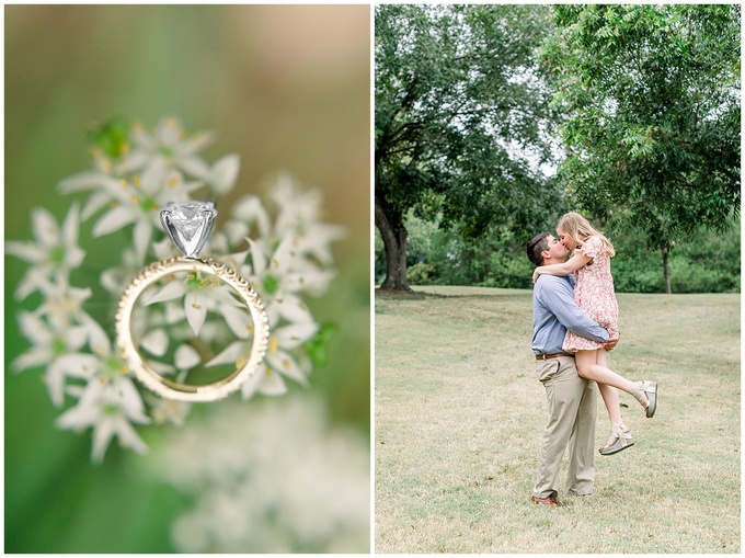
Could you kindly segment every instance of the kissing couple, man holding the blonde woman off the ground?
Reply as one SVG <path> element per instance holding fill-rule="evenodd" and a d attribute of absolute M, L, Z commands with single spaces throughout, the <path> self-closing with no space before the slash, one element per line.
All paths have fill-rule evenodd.
<path fill-rule="evenodd" d="M 595 384 L 610 419 L 601 455 L 633 445 L 621 418 L 618 389 L 634 396 L 650 419 L 657 407 L 655 383 L 631 382 L 607 367 L 606 353 L 619 339 L 610 274 L 610 258 L 616 253 L 612 244 L 576 213 L 559 220 L 557 235 L 559 240 L 543 232 L 527 246 L 528 259 L 536 265 L 532 351 L 549 407 L 531 501 L 552 508 L 559 505 L 559 467 L 568 446 L 568 491 L 577 496 L 593 492 Z"/>

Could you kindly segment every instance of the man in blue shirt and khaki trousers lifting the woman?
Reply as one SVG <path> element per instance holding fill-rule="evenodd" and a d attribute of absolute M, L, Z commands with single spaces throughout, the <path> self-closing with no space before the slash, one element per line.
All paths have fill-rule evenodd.
<path fill-rule="evenodd" d="M 528 242 L 527 253 L 536 266 L 541 266 L 565 262 L 569 250 L 553 236 L 542 232 Z M 607 343 L 607 350 L 618 343 L 618 333 L 609 333 L 576 305 L 574 278 L 571 275 L 540 275 L 532 289 L 532 352 L 538 377 L 546 388 L 549 422 L 543 431 L 538 481 L 530 500 L 551 508 L 559 506 L 559 467 L 568 444 L 569 492 L 591 494 L 595 478 L 595 383 L 581 378 L 574 355 L 562 351 L 568 329 L 584 338 Z"/>

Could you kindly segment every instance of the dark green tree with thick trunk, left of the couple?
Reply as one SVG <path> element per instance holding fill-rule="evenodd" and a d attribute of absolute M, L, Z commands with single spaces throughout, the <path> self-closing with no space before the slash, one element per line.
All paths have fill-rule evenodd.
<path fill-rule="evenodd" d="M 409 289 L 415 209 L 478 236 L 540 221 L 557 187 L 549 91 L 534 49 L 550 30 L 539 5 L 376 8 L 375 224 L 383 289 Z M 548 204 L 550 205 L 550 204 Z"/>

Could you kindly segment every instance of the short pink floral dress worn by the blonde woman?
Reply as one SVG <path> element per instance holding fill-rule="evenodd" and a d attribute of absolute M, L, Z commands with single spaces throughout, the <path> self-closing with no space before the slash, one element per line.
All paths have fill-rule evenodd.
<path fill-rule="evenodd" d="M 593 259 L 574 272 L 574 300 L 587 316 L 608 330 L 618 330 L 618 303 L 610 274 L 610 258 L 597 237 L 589 237 L 576 250 Z M 564 351 L 594 351 L 605 343 L 582 338 L 571 331 L 564 338 Z"/>

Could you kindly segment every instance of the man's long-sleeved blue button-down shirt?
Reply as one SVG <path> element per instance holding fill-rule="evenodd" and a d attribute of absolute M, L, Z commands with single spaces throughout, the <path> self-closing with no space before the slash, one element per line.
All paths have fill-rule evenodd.
<path fill-rule="evenodd" d="M 593 341 L 608 341 L 608 331 L 574 301 L 574 277 L 541 275 L 532 287 L 532 352 L 564 352 L 566 330 Z"/>

